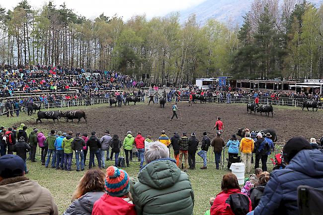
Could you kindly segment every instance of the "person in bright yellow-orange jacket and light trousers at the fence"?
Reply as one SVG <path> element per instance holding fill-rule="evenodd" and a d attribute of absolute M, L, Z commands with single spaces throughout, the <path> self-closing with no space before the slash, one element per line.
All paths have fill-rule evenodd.
<path fill-rule="evenodd" d="M 244 163 L 245 170 L 250 174 L 251 169 L 251 153 L 254 149 L 254 141 L 251 139 L 250 132 L 245 132 L 244 137 L 240 141 L 239 150 L 241 152 L 241 159 Z"/>

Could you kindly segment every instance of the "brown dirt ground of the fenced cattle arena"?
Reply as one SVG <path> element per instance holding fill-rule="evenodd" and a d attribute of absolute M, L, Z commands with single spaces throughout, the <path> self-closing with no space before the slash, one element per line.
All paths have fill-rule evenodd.
<path fill-rule="evenodd" d="M 90 135 L 92 130 L 96 131 L 97 136 L 101 136 L 104 130 L 109 130 L 111 134 L 118 134 L 122 139 L 128 130 L 133 134 L 141 131 L 143 136 L 151 134 L 153 140 L 156 140 L 161 130 L 172 136 L 174 131 L 179 133 L 195 132 L 201 139 L 202 133 L 207 131 L 210 137 L 215 136 L 213 130 L 216 117 L 220 116 L 224 122 L 224 139 L 230 138 L 230 135 L 237 133 L 237 127 L 245 127 L 250 130 L 265 128 L 274 128 L 277 133 L 278 142 L 287 141 L 289 138 L 301 135 L 306 138 L 320 138 L 323 135 L 323 110 L 307 111 L 297 107 L 277 107 L 274 106 L 274 117 L 261 116 L 260 113 L 251 115 L 246 113 L 246 105 L 241 104 L 195 104 L 188 107 L 185 102 L 179 103 L 177 111 L 180 120 L 170 121 L 172 115 L 171 106 L 173 103 L 166 103 L 165 108 L 159 105 L 137 104 L 136 106 L 122 107 L 87 107 L 85 109 L 87 123 L 81 119 L 80 124 L 76 122 L 53 123 L 52 120 L 43 120 L 38 124 L 40 129 L 55 129 L 63 132 L 73 131 L 87 132 Z M 75 108 L 73 108 L 75 109 Z M 79 107 L 82 109 L 82 107 Z M 181 116 L 180 116 L 181 113 Z M 27 126 L 36 127 L 35 123 L 26 123 Z"/>

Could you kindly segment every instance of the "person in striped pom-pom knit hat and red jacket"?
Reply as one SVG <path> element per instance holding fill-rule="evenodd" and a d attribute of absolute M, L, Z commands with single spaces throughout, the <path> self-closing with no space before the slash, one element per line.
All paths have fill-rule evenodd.
<path fill-rule="evenodd" d="M 106 193 L 94 203 L 92 215 L 136 215 L 129 192 L 129 175 L 125 170 L 109 166 L 104 189 Z"/>

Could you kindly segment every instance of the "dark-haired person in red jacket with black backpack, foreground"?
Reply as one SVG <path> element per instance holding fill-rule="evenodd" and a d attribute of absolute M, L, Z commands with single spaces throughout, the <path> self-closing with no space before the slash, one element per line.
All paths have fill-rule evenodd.
<path fill-rule="evenodd" d="M 222 192 L 216 196 L 213 202 L 210 215 L 235 215 L 235 209 L 233 207 L 235 202 L 231 201 L 231 204 L 228 204 L 227 200 L 234 200 L 234 198 L 230 198 L 230 195 L 232 194 L 245 195 L 241 193 L 237 176 L 233 173 L 225 174 L 222 178 L 221 189 Z M 245 203 L 243 204 L 243 202 L 240 202 L 240 207 L 244 209 L 246 214 L 252 210 L 252 205 L 249 197 L 247 195 L 245 195 L 245 197 L 245 199 L 248 199 L 249 204 L 246 205 Z"/>

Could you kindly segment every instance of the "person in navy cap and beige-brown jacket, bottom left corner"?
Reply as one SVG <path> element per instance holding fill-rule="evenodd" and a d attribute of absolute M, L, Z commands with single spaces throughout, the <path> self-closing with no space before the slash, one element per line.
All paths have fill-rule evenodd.
<path fill-rule="evenodd" d="M 49 190 L 25 177 L 24 161 L 16 155 L 0 157 L 1 215 L 58 215 Z"/>

